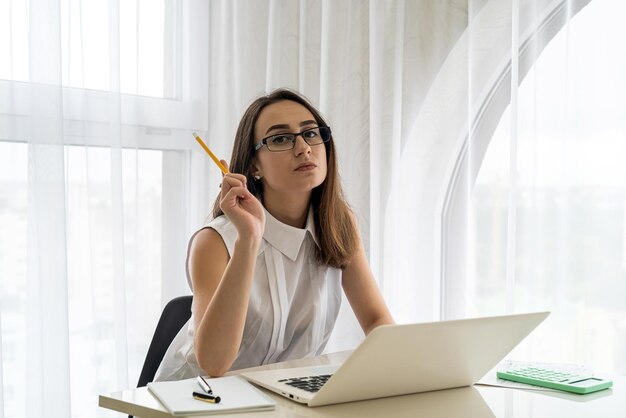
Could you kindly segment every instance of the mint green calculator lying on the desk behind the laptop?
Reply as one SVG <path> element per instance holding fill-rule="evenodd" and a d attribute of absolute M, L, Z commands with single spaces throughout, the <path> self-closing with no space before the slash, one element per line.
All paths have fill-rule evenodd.
<path fill-rule="evenodd" d="M 506 371 L 498 371 L 500 379 L 529 385 L 543 386 L 550 389 L 564 390 L 578 394 L 597 392 L 613 386 L 610 380 L 590 375 L 577 375 L 541 367 L 520 367 Z"/>

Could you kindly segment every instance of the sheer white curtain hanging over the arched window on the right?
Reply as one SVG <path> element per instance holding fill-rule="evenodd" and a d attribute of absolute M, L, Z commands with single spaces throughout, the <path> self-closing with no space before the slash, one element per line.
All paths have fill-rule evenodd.
<path fill-rule="evenodd" d="M 436 108 L 442 123 L 416 127 L 450 141 L 436 151 L 449 153 L 436 207 L 441 316 L 550 310 L 515 356 L 623 373 L 624 6 L 468 11 L 440 73 L 462 88 L 431 90 L 462 99 L 447 96 L 456 108 Z"/>

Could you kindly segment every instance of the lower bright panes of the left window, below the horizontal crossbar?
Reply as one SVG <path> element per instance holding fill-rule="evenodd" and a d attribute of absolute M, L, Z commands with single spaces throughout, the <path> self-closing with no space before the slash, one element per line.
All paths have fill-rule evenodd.
<path fill-rule="evenodd" d="M 122 224 L 112 220 L 111 150 L 65 147 L 67 289 L 72 408 L 94 411 L 93 395 L 117 387 L 116 313 L 128 331 L 128 374 L 136 379 L 161 306 L 162 152 L 122 150 Z M 0 328 L 4 408 L 21 416 L 26 402 L 28 292 L 28 145 L 0 142 Z M 114 280 L 115 228 L 123 225 L 127 306 Z M 85 374 L 85 370 L 92 372 Z"/>

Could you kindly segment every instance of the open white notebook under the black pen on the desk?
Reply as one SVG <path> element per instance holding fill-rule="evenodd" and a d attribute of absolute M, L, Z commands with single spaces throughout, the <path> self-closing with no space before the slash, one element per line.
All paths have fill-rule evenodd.
<path fill-rule="evenodd" d="M 192 397 L 201 392 L 197 380 L 186 379 L 169 382 L 150 382 L 148 390 L 173 416 L 212 415 L 231 412 L 267 411 L 275 403 L 267 395 L 239 376 L 207 379 L 220 403 L 208 403 Z"/>

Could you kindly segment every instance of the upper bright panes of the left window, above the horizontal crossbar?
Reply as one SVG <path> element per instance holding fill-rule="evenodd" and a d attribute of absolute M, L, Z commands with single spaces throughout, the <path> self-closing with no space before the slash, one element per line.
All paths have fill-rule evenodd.
<path fill-rule="evenodd" d="M 165 73 L 175 71 L 170 66 L 180 65 L 173 59 L 176 50 L 170 47 L 177 36 L 173 20 L 176 14 L 166 15 L 165 0 L 121 1 L 118 25 L 111 23 L 109 3 L 60 2 L 63 86 L 111 90 L 111 61 L 119 52 L 120 92 L 172 97 L 166 93 L 178 89 L 166 86 L 175 80 L 166 80 Z M 0 56 L 10 58 L 0 61 L 0 79 L 28 81 L 29 4 L 26 0 L 6 1 L 0 4 L 0 10 Z M 119 34 L 113 33 L 115 28 L 119 28 Z M 109 45 L 118 39 L 117 35 L 119 51 Z"/>

